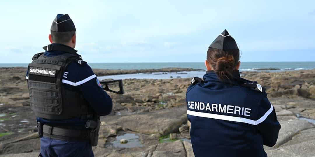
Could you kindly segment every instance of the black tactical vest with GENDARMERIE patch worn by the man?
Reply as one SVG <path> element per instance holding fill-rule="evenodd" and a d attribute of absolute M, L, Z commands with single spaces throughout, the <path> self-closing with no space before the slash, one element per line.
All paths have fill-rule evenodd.
<path fill-rule="evenodd" d="M 65 46 L 54 46 L 55 48 L 49 46 L 47 50 L 68 49 Z M 93 110 L 79 92 L 61 85 L 66 66 L 72 61 L 81 63 L 80 55 L 73 53 L 72 49 L 72 53 L 70 51 L 55 57 L 46 57 L 43 53 L 38 53 L 32 60 L 28 65 L 28 89 L 31 109 L 36 116 L 47 119 L 94 116 Z"/>

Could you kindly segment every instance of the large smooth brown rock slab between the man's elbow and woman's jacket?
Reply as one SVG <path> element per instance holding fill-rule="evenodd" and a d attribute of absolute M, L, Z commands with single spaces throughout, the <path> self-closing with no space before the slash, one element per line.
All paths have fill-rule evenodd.
<path fill-rule="evenodd" d="M 178 128 L 187 121 L 186 106 L 168 110 L 141 112 L 112 119 L 109 125 L 120 125 L 124 130 L 144 134 L 161 134 L 178 132 Z M 106 121 L 106 118 L 104 119 Z"/>

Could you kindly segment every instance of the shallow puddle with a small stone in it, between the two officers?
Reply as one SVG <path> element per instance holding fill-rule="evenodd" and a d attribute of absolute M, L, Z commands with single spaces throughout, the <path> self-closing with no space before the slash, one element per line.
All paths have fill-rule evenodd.
<path fill-rule="evenodd" d="M 121 139 L 127 139 L 128 143 L 122 144 L 120 143 Z M 134 148 L 134 147 L 143 147 L 139 140 L 139 136 L 135 133 L 126 133 L 121 136 L 117 136 L 115 141 L 110 142 L 113 144 L 114 147 L 119 148 Z"/>

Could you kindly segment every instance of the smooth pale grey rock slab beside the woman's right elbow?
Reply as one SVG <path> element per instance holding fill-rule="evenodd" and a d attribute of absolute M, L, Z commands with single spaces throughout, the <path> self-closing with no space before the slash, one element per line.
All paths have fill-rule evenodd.
<path fill-rule="evenodd" d="M 294 135 L 303 130 L 314 128 L 314 125 L 307 122 L 306 120 L 281 121 L 280 124 L 281 129 L 279 131 L 278 140 L 273 148 L 278 148 L 282 144 L 291 140 Z"/>

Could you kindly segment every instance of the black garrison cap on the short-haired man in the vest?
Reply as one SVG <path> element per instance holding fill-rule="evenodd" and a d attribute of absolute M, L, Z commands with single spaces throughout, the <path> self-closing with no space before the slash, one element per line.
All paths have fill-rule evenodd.
<path fill-rule="evenodd" d="M 76 27 L 74 26 L 72 19 L 70 19 L 68 14 L 58 14 L 50 28 L 50 31 L 52 32 L 70 32 L 75 30 Z"/>

